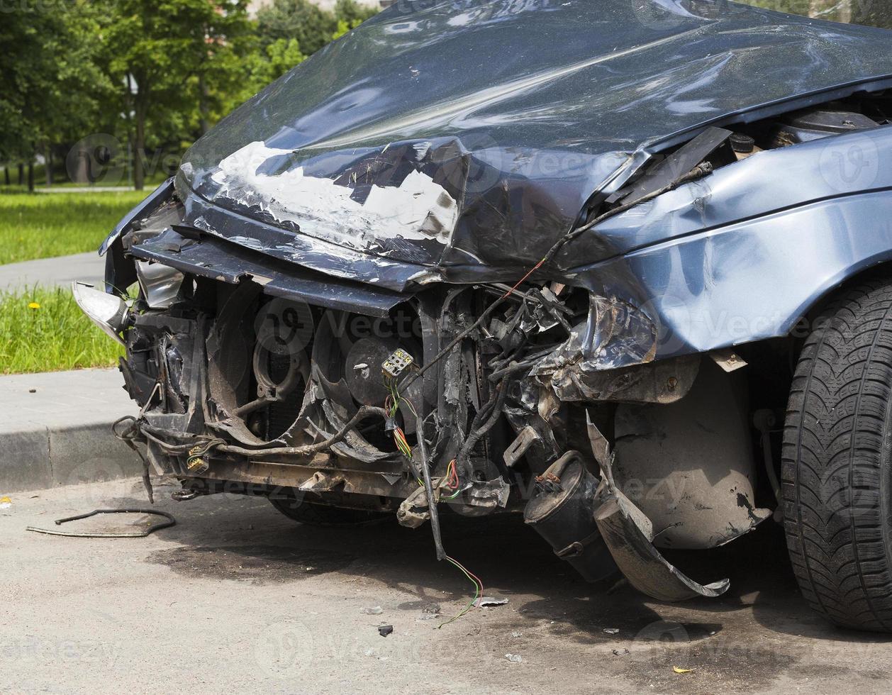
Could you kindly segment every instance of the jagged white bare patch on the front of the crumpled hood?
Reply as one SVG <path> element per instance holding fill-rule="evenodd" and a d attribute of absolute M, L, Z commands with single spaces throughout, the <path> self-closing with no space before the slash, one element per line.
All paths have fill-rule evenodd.
<path fill-rule="evenodd" d="M 449 244 L 458 203 L 433 178 L 412 171 L 400 186 L 372 186 L 366 202 L 357 203 L 351 188 L 330 178 L 305 176 L 301 167 L 274 176 L 257 173 L 270 157 L 290 153 L 262 142 L 245 145 L 220 161 L 211 176 L 219 186 L 214 198 L 260 205 L 302 232 L 359 248 L 395 237 Z"/>

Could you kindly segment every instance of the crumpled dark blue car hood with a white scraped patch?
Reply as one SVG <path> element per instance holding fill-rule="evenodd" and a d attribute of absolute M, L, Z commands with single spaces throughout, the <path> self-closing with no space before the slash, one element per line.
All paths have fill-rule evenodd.
<path fill-rule="evenodd" d="M 211 129 L 178 190 L 196 226 L 305 265 L 528 268 L 657 146 L 892 74 L 888 37 L 711 0 L 403 0 Z M 558 261 L 612 253 L 584 249 Z"/>

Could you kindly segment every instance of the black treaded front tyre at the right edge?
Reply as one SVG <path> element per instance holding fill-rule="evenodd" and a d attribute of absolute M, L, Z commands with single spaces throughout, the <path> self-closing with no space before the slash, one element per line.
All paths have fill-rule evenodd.
<path fill-rule="evenodd" d="M 789 556 L 837 625 L 892 631 L 892 280 L 830 302 L 805 342 L 783 443 Z"/>

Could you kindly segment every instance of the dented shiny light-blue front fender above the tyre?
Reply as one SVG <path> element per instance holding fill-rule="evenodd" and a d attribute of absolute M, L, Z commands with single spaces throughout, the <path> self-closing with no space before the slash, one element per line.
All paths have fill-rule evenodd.
<path fill-rule="evenodd" d="M 723 167 L 599 224 L 574 257 L 590 243 L 617 255 L 574 263 L 574 282 L 647 306 L 657 360 L 789 335 L 847 277 L 892 260 L 890 150 L 887 125 Z"/>

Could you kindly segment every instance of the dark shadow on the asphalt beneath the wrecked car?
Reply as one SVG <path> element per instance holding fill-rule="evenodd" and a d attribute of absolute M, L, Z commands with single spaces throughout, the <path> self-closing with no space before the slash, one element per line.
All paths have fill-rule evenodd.
<path fill-rule="evenodd" d="M 249 583 L 293 583 L 331 572 L 356 575 L 408 593 L 411 598 L 398 608 L 417 613 L 467 600 L 472 591 L 455 567 L 436 562 L 428 525 L 413 530 L 386 520 L 311 527 L 280 515 L 266 501 L 236 495 L 165 508 L 178 517 L 178 525 L 157 535 L 176 545 L 153 551 L 147 560 L 183 575 Z M 749 615 L 772 633 L 848 643 L 892 641 L 892 635 L 838 629 L 814 614 L 798 592 L 782 530 L 770 521 L 722 548 L 667 552 L 700 582 L 731 579 L 731 589 L 718 599 L 678 604 L 648 600 L 623 580 L 586 583 L 520 514 L 470 518 L 445 512 L 442 535 L 450 555 L 481 577 L 487 595 L 510 598 L 520 616 L 554 621 L 554 632 L 582 643 L 615 641 L 605 628 L 636 640 L 694 642 L 721 633 L 729 619 Z M 493 624 L 500 620 L 498 611 L 490 615 Z M 698 619 L 688 621 L 686 615 Z M 512 619 L 516 623 L 516 616 Z"/>

